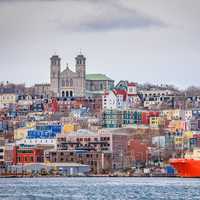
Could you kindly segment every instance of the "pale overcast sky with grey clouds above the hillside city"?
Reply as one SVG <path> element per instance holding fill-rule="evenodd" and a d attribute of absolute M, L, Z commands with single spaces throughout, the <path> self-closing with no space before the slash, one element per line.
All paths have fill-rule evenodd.
<path fill-rule="evenodd" d="M 53 54 L 87 73 L 200 86 L 199 0 L 0 0 L 0 82 L 47 83 Z"/>

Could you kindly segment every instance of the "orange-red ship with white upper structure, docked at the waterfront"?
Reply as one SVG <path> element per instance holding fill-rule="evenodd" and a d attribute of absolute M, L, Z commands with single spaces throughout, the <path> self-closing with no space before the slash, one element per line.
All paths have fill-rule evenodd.
<path fill-rule="evenodd" d="M 187 152 L 184 158 L 170 159 L 169 162 L 176 169 L 180 177 L 200 177 L 200 149 Z"/>

